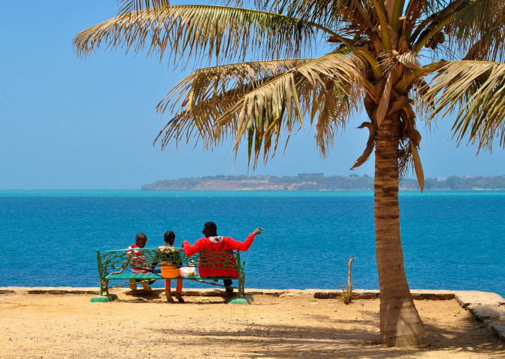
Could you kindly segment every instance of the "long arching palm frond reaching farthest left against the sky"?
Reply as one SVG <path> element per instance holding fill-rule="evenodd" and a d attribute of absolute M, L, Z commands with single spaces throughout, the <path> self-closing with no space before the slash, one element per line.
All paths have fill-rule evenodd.
<path fill-rule="evenodd" d="M 308 21 L 271 12 L 223 6 L 168 6 L 141 10 L 99 23 L 79 32 L 73 41 L 77 55 L 86 56 L 102 43 L 126 52 L 158 53 L 174 59 L 213 57 L 244 59 L 247 54 L 298 57 L 310 48 L 318 31 L 333 32 Z"/>

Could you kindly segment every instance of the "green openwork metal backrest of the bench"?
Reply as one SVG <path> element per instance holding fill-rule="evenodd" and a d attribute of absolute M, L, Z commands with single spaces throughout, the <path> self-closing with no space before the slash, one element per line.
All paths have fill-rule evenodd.
<path fill-rule="evenodd" d="M 188 257 L 183 249 L 174 248 L 172 251 L 158 248 L 119 249 L 117 251 L 97 251 L 98 270 L 107 273 L 120 269 L 129 262 L 129 267 L 145 267 L 155 264 L 157 266 L 190 266 L 195 268 L 226 268 L 240 270 L 239 251 L 216 251 L 215 253 L 203 250 Z"/>

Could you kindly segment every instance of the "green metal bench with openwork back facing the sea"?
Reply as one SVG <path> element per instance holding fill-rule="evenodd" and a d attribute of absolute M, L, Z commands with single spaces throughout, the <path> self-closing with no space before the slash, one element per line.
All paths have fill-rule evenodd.
<path fill-rule="evenodd" d="M 138 259 L 138 255 L 129 256 L 128 253 L 135 251 L 136 253 L 142 253 L 143 258 Z M 231 304 L 248 304 L 252 302 L 252 297 L 249 295 L 244 295 L 244 282 L 246 280 L 246 273 L 244 272 L 244 265 L 246 261 L 240 260 L 240 251 L 217 251 L 212 253 L 210 251 L 203 250 L 200 253 L 196 253 L 191 257 L 185 255 L 183 249 L 174 248 L 173 251 L 163 251 L 157 248 L 143 248 L 143 249 L 120 249 L 117 251 L 96 251 L 98 260 L 98 274 L 100 275 L 100 297 L 91 298 L 91 302 L 110 302 L 117 298 L 117 295 L 110 294 L 109 289 L 126 287 L 127 284 L 118 284 L 115 286 L 110 286 L 109 281 L 111 280 L 138 280 L 142 282 L 150 282 L 152 280 L 165 280 L 160 274 L 154 273 L 131 273 L 131 268 L 141 268 L 151 266 L 151 264 L 156 263 L 156 266 L 189 266 L 195 269 L 206 268 L 206 269 L 218 269 L 226 268 L 233 269 L 239 273 L 238 277 L 200 277 L 196 275 L 193 277 L 177 277 L 177 278 L 166 278 L 171 280 L 193 280 L 195 282 L 201 282 L 205 284 L 210 284 L 217 287 L 225 287 L 224 284 L 218 284 L 214 280 L 238 280 L 238 287 L 232 287 L 237 289 L 238 295 L 236 298 L 230 300 L 228 303 Z M 125 266 L 126 264 L 126 266 Z M 125 271 L 129 273 L 120 274 L 110 274 L 114 271 L 119 271 L 125 268 Z"/>

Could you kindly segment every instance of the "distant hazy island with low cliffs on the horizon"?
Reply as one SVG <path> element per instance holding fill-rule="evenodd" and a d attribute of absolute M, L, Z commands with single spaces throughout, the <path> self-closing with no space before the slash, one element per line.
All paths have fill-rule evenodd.
<path fill-rule="evenodd" d="M 505 189 L 505 176 L 437 177 L 425 179 L 426 190 Z M 371 191 L 374 177 L 367 175 L 325 176 L 299 173 L 297 176 L 225 176 L 165 179 L 143 184 L 142 191 Z M 403 179 L 401 190 L 419 190 L 416 179 Z"/>

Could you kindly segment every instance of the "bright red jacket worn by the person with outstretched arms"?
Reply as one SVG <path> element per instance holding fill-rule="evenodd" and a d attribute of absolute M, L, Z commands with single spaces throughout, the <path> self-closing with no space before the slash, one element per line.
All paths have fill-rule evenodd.
<path fill-rule="evenodd" d="M 201 252 L 203 249 L 207 249 L 212 253 L 217 253 L 217 251 L 247 251 L 252 242 L 255 240 L 255 235 L 250 234 L 249 237 L 244 242 L 239 242 L 231 237 L 207 237 L 200 238 L 192 246 L 187 240 L 183 242 L 184 253 L 188 257 L 191 257 L 195 253 Z M 219 257 L 218 257 L 219 258 Z M 205 264 L 201 265 L 202 260 L 205 260 L 205 255 L 200 258 L 199 262 L 199 274 L 201 277 L 238 277 L 239 273 L 234 269 L 219 269 L 219 268 L 205 268 Z M 231 258 L 232 262 L 237 263 L 235 257 Z M 216 262 L 211 260 L 212 262 Z M 223 266 L 223 264 L 221 264 Z"/>

